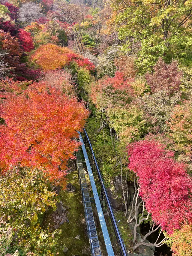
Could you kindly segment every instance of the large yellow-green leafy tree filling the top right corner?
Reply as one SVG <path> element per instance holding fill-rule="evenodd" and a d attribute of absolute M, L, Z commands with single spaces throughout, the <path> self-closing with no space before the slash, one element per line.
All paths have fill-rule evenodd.
<path fill-rule="evenodd" d="M 141 72 L 151 70 L 160 56 L 167 60 L 186 57 L 191 47 L 190 1 L 109 0 L 108 3 L 113 10 L 108 24 L 116 26 L 119 39 L 125 42 L 125 51 L 140 50 L 137 65 Z"/>

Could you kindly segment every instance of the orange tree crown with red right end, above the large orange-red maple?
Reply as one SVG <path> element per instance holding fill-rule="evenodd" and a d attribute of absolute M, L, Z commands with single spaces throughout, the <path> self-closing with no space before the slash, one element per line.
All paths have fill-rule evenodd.
<path fill-rule="evenodd" d="M 73 61 L 79 67 L 85 67 L 88 70 L 95 69 L 95 65 L 88 59 L 74 53 L 67 47 L 60 47 L 55 44 L 40 46 L 32 55 L 32 60 L 45 71 L 69 66 Z"/>

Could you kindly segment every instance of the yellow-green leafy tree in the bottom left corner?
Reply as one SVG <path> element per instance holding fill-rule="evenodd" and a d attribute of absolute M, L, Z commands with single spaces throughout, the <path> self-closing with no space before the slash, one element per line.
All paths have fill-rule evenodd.
<path fill-rule="evenodd" d="M 37 169 L 14 168 L 0 177 L 0 255 L 56 254 L 58 231 L 42 230 L 40 216 L 52 207 L 56 195 Z M 51 254 L 52 255 L 52 254 Z"/>

